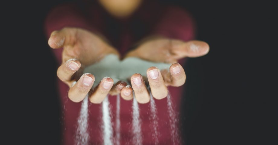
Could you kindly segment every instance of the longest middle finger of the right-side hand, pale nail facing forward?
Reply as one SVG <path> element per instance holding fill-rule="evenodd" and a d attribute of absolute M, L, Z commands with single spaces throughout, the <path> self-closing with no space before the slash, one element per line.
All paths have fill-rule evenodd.
<path fill-rule="evenodd" d="M 150 90 L 154 98 L 165 98 L 168 94 L 168 90 L 160 73 L 160 70 L 156 67 L 150 67 L 149 69 L 147 69 L 147 77 L 150 85 Z"/>

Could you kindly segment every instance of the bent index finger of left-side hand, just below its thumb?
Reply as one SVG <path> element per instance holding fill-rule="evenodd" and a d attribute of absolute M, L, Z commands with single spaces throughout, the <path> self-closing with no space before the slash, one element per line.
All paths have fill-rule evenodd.
<path fill-rule="evenodd" d="M 80 66 L 81 63 L 78 60 L 69 59 L 58 68 L 57 76 L 63 82 L 70 81 L 73 74 L 79 70 Z"/>

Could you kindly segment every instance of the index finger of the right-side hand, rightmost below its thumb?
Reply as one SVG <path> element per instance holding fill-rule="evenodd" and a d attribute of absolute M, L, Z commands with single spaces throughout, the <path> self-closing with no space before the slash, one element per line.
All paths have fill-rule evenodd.
<path fill-rule="evenodd" d="M 185 83 L 186 75 L 183 67 L 179 63 L 174 63 L 170 66 L 170 72 L 167 70 L 161 71 L 166 86 L 179 87 Z"/>

